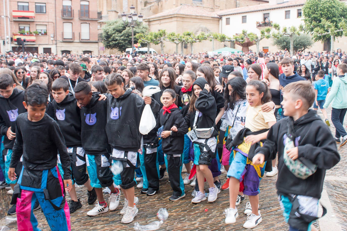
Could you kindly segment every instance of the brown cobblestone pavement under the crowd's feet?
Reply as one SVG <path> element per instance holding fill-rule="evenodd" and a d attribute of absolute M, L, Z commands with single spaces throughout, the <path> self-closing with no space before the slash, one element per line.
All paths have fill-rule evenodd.
<path fill-rule="evenodd" d="M 321 113 L 319 115 L 322 116 Z M 330 110 L 328 110 L 328 116 L 330 117 Z M 347 119 L 345 119 L 345 126 Z M 331 124 L 331 131 L 335 134 L 335 128 Z M 346 145 L 347 146 L 347 145 Z M 347 230 L 347 173 L 345 171 L 347 165 L 346 150 L 347 148 L 339 148 L 341 155 L 341 161 L 333 169 L 327 171 L 325 178 L 325 190 L 328 194 L 328 203 L 330 202 L 333 214 L 328 213 L 324 221 L 325 226 L 329 227 L 329 222 L 338 223 L 341 230 Z M 222 174 L 222 184 L 226 181 L 226 174 Z M 260 183 L 260 212 L 262 214 L 263 221 L 253 230 L 287 230 L 287 225 L 284 222 L 282 212 L 278 203 L 275 182 L 277 176 L 272 178 L 264 177 Z M 207 185 L 205 185 L 207 190 Z M 226 225 L 224 223 L 225 215 L 223 211 L 229 204 L 229 191 L 221 191 L 218 194 L 218 199 L 214 203 L 208 203 L 207 201 L 199 204 L 191 203 L 191 193 L 193 187 L 186 186 L 186 197 L 180 199 L 177 202 L 170 202 L 169 196 L 171 195 L 171 187 L 168 183 L 168 176 L 164 177 L 164 180 L 160 182 L 160 192 L 154 196 L 146 196 L 139 193 L 140 189 L 135 189 L 135 194 L 139 198 L 137 205 L 139 212 L 135 217 L 135 220 L 130 224 L 121 224 L 121 215 L 119 211 L 122 208 L 120 203 L 116 211 L 107 212 L 96 217 L 88 217 L 86 212 L 93 208 L 93 205 L 88 205 L 86 188 L 77 188 L 78 197 L 81 199 L 83 207 L 71 214 L 71 230 L 132 230 L 135 222 L 142 224 L 148 224 L 151 221 L 157 221 L 156 213 L 159 208 L 167 208 L 169 212 L 169 218 L 161 226 L 159 230 L 245 230 L 243 223 L 246 221 L 246 215 L 243 214 L 246 202 L 246 197 L 238 206 L 239 217 L 234 225 Z M 6 212 L 9 208 L 10 196 L 6 194 L 5 189 L 0 189 L 0 226 L 4 224 Z M 105 194 L 105 199 L 108 196 Z M 67 197 L 67 200 L 69 198 Z M 124 197 L 121 196 L 121 202 L 124 201 Z M 326 204 L 323 204 L 326 206 Z M 205 212 L 205 209 L 208 211 Z M 36 211 L 35 215 L 39 222 L 39 228 L 42 230 L 50 230 L 43 213 L 41 210 Z M 323 218 L 322 218 L 323 219 Z M 314 225 L 319 228 L 321 226 L 321 220 Z M 335 220 L 334 220 L 335 219 Z M 328 224 L 327 224 L 328 222 Z M 11 230 L 17 230 L 16 224 L 10 224 L 8 227 Z M 323 231 L 335 231 L 336 229 L 324 228 Z"/>

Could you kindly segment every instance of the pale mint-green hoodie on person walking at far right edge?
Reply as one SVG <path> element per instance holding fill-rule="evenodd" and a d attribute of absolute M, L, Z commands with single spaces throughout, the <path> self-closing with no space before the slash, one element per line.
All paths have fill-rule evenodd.
<path fill-rule="evenodd" d="M 331 107 L 341 109 L 347 108 L 347 75 L 335 77 L 332 82 L 330 93 L 325 99 L 324 108 L 327 108 L 332 101 Z"/>

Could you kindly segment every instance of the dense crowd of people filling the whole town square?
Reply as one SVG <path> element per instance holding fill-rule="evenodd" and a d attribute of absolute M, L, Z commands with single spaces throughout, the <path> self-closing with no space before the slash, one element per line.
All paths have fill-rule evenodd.
<path fill-rule="evenodd" d="M 314 230 L 325 170 L 340 159 L 336 144 L 347 143 L 341 49 L 0 55 L 0 188 L 12 195 L 8 215 L 17 214 L 18 230 L 38 230 L 33 211 L 40 207 L 52 230 L 70 230 L 70 214 L 82 207 L 75 185 L 85 186 L 88 204 L 98 201 L 89 216 L 117 210 L 122 193 L 121 222 L 131 223 L 143 212 L 136 194 L 157 194 L 166 174 L 172 202 L 188 185 L 196 204 L 228 190 L 226 224 L 236 222 L 247 195 L 246 229 L 262 222 L 261 178 L 278 174 L 289 230 Z M 160 91 L 143 96 L 151 86 Z M 156 125 L 141 134 L 145 105 Z"/>

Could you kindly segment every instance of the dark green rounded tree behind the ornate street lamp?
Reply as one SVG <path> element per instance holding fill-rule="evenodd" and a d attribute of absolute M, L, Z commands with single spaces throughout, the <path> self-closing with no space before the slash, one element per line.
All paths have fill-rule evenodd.
<path fill-rule="evenodd" d="M 138 42 L 135 36 L 136 34 L 147 32 L 148 27 L 138 23 L 138 25 L 134 27 L 134 43 Z M 121 19 L 108 21 L 103 27 L 102 36 L 104 37 L 102 43 L 107 49 L 117 49 L 124 52 L 126 48 L 132 46 L 131 28 L 126 27 Z"/>

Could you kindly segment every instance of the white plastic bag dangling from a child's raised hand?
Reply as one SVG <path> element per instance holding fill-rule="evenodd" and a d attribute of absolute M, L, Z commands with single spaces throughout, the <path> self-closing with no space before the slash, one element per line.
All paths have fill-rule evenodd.
<path fill-rule="evenodd" d="M 142 91 L 142 96 L 152 96 L 156 92 L 159 92 L 160 88 L 157 86 L 146 86 Z M 147 135 L 156 125 L 155 117 L 153 115 L 151 105 L 146 104 L 143 109 L 139 131 L 142 135 Z"/>

